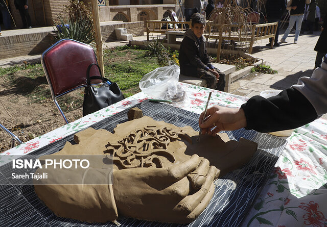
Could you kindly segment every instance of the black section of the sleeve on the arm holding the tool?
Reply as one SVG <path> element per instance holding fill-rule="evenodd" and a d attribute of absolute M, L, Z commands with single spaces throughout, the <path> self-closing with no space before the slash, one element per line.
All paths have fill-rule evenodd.
<path fill-rule="evenodd" d="M 294 88 L 267 99 L 253 96 L 241 108 L 247 122 L 245 129 L 263 133 L 295 129 L 318 116 L 309 100 Z"/>

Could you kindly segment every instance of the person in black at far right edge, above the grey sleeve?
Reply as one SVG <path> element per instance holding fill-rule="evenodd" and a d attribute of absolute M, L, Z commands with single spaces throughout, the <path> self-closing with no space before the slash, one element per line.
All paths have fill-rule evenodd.
<path fill-rule="evenodd" d="M 317 44 L 314 50 L 317 52 L 316 61 L 315 61 L 315 68 L 320 67 L 322 58 L 327 54 L 327 14 L 323 19 L 323 24 L 321 27 L 321 34 L 317 41 Z"/>

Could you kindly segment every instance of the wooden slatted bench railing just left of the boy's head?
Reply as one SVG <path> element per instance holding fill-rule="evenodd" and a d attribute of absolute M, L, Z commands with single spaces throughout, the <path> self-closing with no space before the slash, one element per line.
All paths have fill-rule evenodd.
<path fill-rule="evenodd" d="M 188 26 L 186 26 L 186 24 Z M 161 29 L 162 27 L 164 27 L 164 25 L 166 25 L 166 29 Z M 146 21 L 147 40 L 149 41 L 149 33 L 165 34 L 165 32 L 167 32 L 167 31 L 183 31 L 186 28 L 189 28 L 190 25 L 191 25 L 190 21 L 147 20 Z M 169 27 L 171 27 L 171 28 L 169 28 Z"/>

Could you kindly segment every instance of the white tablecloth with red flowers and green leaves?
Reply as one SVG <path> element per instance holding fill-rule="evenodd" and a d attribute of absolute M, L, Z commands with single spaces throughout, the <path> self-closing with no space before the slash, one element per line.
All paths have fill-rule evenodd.
<path fill-rule="evenodd" d="M 200 114 L 209 91 L 209 107 L 239 108 L 243 96 L 181 83 L 189 101 L 180 108 Z M 2 155 L 24 155 L 65 136 L 90 127 L 95 122 L 150 98 L 140 92 L 119 103 L 89 114 L 52 132 L 16 146 Z M 317 119 L 295 129 L 279 157 L 269 180 L 242 226 L 327 226 L 327 121 Z"/>

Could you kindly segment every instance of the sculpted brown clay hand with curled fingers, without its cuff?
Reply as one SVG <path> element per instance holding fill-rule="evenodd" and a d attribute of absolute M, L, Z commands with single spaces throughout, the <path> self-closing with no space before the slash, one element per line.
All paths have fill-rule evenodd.
<path fill-rule="evenodd" d="M 113 194 L 118 213 L 126 217 L 160 222 L 189 223 L 211 200 L 217 168 L 193 155 L 188 161 L 169 168 L 133 168 L 113 172 Z M 204 167 L 204 168 L 203 168 Z M 205 182 L 192 191 L 186 177 L 202 168 Z M 190 194 L 190 191 L 192 193 Z"/>

